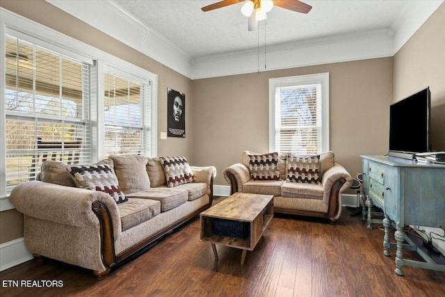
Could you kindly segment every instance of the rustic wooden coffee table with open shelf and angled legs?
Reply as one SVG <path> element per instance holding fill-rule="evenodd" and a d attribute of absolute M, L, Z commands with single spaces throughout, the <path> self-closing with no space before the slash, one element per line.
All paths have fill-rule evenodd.
<path fill-rule="evenodd" d="M 234 193 L 213 207 L 202 211 L 201 220 L 201 241 L 209 241 L 213 249 L 213 255 L 218 260 L 216 243 L 240 248 L 241 265 L 244 264 L 245 255 L 248 250 L 253 250 L 261 236 L 273 218 L 273 195 L 260 195 L 250 193 Z M 247 222 L 250 232 L 245 238 L 234 236 L 223 236 L 214 233 L 214 220 L 219 222 L 227 220 L 227 223 Z M 245 224 L 245 223 L 244 223 Z M 228 230 L 230 232 L 230 230 Z"/>

